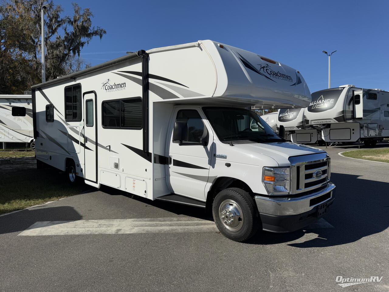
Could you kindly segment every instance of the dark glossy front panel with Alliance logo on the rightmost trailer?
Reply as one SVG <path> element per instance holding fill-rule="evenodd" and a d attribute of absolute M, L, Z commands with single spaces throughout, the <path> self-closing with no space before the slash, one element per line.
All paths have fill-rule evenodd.
<path fill-rule="evenodd" d="M 312 93 L 312 101 L 308 106 L 308 111 L 311 113 L 321 113 L 328 109 L 332 109 L 338 101 L 342 91 L 343 88 L 332 88 Z"/>

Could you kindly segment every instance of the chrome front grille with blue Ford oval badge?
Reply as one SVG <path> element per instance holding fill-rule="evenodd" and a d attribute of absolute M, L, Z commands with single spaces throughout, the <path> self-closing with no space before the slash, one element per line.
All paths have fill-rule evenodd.
<path fill-rule="evenodd" d="M 328 185 L 331 173 L 330 159 L 326 153 L 290 157 L 289 161 L 292 165 L 291 194 L 303 195 Z"/>

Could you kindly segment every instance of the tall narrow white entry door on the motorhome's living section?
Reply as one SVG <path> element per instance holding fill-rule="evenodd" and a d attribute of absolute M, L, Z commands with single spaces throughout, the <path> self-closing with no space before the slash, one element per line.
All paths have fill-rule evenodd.
<path fill-rule="evenodd" d="M 97 183 L 96 92 L 84 93 L 84 178 Z"/>

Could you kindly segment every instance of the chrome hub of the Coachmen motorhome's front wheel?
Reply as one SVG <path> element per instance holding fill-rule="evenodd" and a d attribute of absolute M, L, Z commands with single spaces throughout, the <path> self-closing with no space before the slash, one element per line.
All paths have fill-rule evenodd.
<path fill-rule="evenodd" d="M 242 228 L 243 212 L 233 200 L 225 200 L 220 204 L 219 218 L 228 230 L 236 232 Z"/>

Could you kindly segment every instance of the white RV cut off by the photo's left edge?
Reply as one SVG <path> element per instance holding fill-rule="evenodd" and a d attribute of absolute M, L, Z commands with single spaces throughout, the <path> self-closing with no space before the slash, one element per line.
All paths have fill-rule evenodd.
<path fill-rule="evenodd" d="M 0 95 L 0 142 L 34 139 L 31 95 Z"/>

